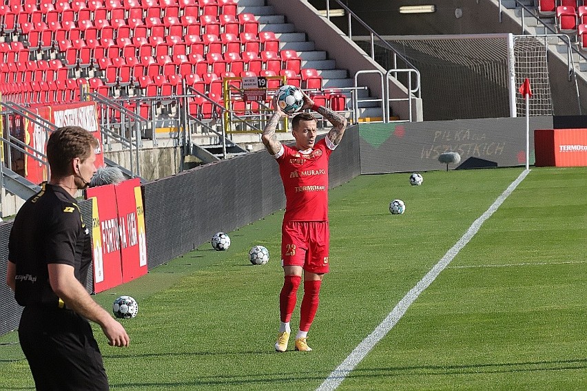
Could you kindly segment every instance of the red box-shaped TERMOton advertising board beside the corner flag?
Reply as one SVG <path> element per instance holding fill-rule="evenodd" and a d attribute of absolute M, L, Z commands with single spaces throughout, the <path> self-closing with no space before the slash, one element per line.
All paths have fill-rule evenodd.
<path fill-rule="evenodd" d="M 587 166 L 587 129 L 536 129 L 536 167 Z"/>

